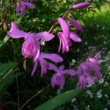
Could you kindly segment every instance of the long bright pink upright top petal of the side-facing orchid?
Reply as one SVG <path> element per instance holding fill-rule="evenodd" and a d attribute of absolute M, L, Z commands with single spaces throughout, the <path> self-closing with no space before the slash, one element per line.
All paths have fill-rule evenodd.
<path fill-rule="evenodd" d="M 69 28 L 67 22 L 63 18 L 58 18 L 58 22 L 60 23 L 60 26 L 61 26 L 65 36 L 67 38 L 69 38 L 69 36 L 70 36 L 70 28 Z"/>

